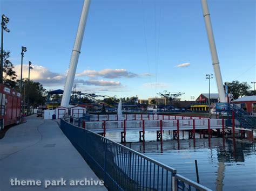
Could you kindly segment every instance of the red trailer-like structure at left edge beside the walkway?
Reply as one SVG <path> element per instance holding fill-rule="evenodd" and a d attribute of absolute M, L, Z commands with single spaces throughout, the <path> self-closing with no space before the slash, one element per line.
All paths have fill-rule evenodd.
<path fill-rule="evenodd" d="M 0 130 L 21 123 L 21 93 L 0 84 Z"/>

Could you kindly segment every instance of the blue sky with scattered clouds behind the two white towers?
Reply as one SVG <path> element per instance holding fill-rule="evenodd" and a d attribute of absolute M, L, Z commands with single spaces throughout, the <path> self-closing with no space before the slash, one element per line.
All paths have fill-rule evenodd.
<path fill-rule="evenodd" d="M 4 49 L 49 90 L 63 89 L 83 0 L 0 0 L 10 18 Z M 208 0 L 223 82 L 256 81 L 254 0 Z M 76 70 L 76 90 L 141 99 L 208 92 L 214 74 L 200 0 L 92 0 Z M 252 86 L 253 88 L 253 86 Z M 218 93 L 215 77 L 211 93 Z"/>

